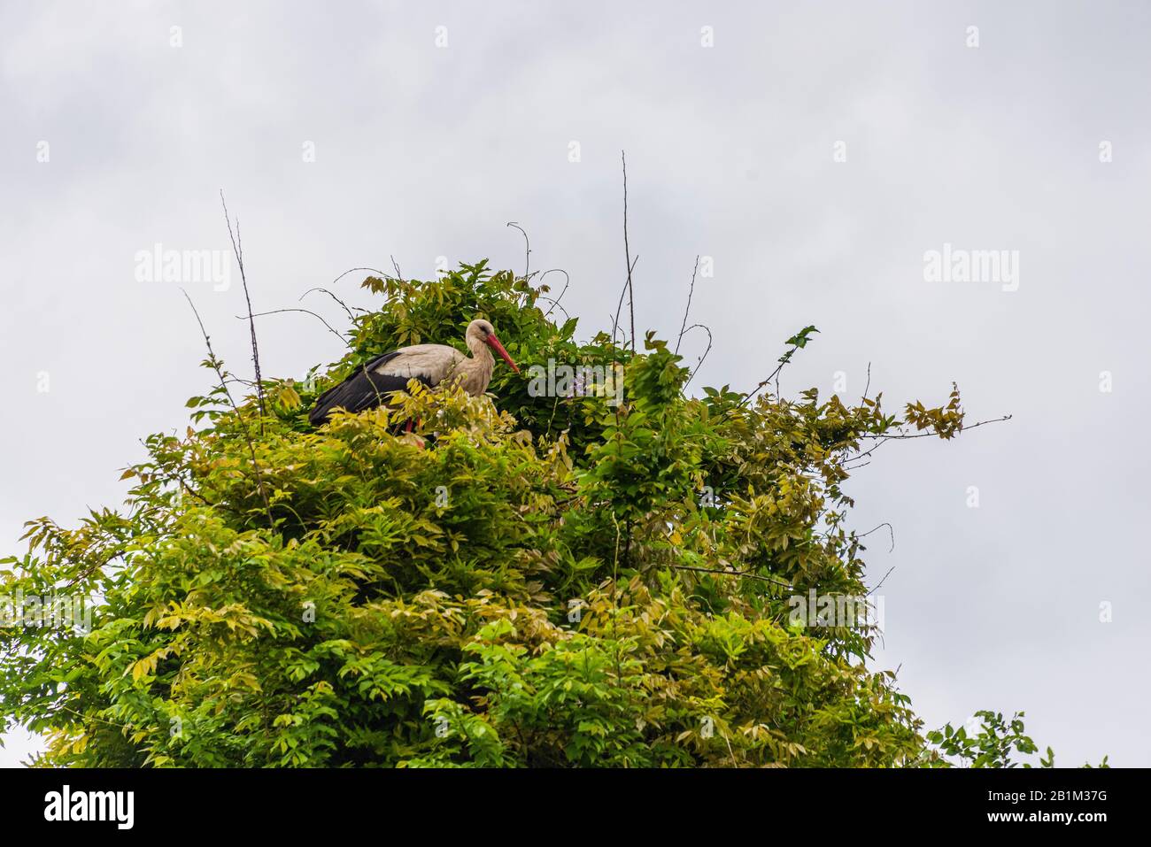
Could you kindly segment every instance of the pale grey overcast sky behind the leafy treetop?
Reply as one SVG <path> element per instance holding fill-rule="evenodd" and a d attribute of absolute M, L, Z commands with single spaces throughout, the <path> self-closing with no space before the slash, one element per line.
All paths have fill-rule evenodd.
<path fill-rule="evenodd" d="M 889 443 L 848 484 L 852 525 L 894 531 L 869 536 L 869 583 L 894 567 L 876 665 L 927 726 L 1024 710 L 1059 765 L 1151 765 L 1149 36 L 1151 6 L 1113 0 L 0 0 L 0 556 L 24 520 L 119 505 L 139 438 L 211 387 L 180 287 L 135 257 L 228 249 L 221 189 L 257 311 L 389 257 L 521 270 L 517 221 L 587 338 L 624 276 L 625 150 L 638 328 L 674 336 L 714 262 L 694 388 L 749 389 L 814 323 L 785 392 L 841 372 L 857 398 L 870 363 L 892 410 L 955 381 L 969 421 L 1013 415 Z M 945 243 L 1017 251 L 1017 290 L 925 281 Z M 185 288 L 244 372 L 233 270 Z M 364 275 L 334 290 L 369 306 Z M 307 315 L 259 333 L 266 376 L 341 352 Z"/>

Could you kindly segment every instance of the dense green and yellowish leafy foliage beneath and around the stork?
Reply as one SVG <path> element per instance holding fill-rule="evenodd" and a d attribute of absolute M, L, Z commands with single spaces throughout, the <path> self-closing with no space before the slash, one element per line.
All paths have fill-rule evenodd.
<path fill-rule="evenodd" d="M 330 369 L 267 382 L 262 415 L 230 381 L 192 398 L 125 511 L 31 521 L 0 563 L 0 594 L 97 602 L 89 632 L 0 628 L 0 722 L 48 735 L 41 764 L 946 761 L 866 665 L 874 629 L 794 623 L 788 598 L 867 594 L 849 463 L 904 425 L 951 437 L 956 392 L 900 417 L 814 389 L 688 398 L 664 342 L 578 343 L 510 272 L 364 285 L 386 299 Z M 308 426 L 334 380 L 478 315 L 524 366 L 618 364 L 623 402 L 497 366 L 489 396 L 412 383 L 397 412 Z"/>

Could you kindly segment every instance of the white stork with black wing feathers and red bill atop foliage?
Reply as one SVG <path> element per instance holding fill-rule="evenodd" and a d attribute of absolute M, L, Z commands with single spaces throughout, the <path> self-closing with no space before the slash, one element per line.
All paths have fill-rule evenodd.
<path fill-rule="evenodd" d="M 378 356 L 338 386 L 321 394 L 307 419 L 312 426 L 320 426 L 337 407 L 363 412 L 387 405 L 392 392 L 407 388 L 409 380 L 419 380 L 429 388 L 455 383 L 472 397 L 479 397 L 491 382 L 491 369 L 495 367 L 491 350 L 519 373 L 488 321 L 477 319 L 468 323 L 464 341 L 472 351 L 471 358 L 447 344 L 413 344 Z M 407 428 L 411 429 L 411 421 Z"/>

